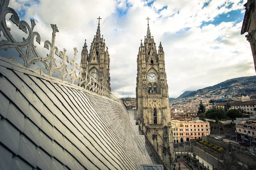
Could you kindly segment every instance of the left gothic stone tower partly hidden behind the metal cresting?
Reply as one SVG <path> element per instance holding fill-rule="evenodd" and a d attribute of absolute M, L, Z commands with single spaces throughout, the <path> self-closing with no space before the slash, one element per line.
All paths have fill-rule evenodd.
<path fill-rule="evenodd" d="M 109 54 L 108 47 L 106 48 L 105 40 L 100 37 L 100 17 L 99 25 L 96 32 L 96 36 L 94 35 L 90 53 L 88 54 L 86 40 L 84 42 L 84 47 L 81 54 L 81 64 L 82 68 L 86 71 L 86 67 L 88 67 L 88 75 L 99 83 L 108 86 L 110 88 L 110 74 L 109 74 Z M 106 51 L 105 51 L 106 49 Z M 88 66 L 87 66 L 88 61 Z"/>

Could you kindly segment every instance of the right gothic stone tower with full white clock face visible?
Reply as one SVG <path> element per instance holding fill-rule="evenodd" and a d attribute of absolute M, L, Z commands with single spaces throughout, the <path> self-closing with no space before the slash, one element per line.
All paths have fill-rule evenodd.
<path fill-rule="evenodd" d="M 149 18 L 147 18 L 149 19 Z M 140 43 L 137 57 L 136 100 L 139 126 L 164 158 L 169 168 L 173 167 L 174 151 L 171 130 L 168 85 L 165 73 L 162 44 L 156 43 L 148 31 L 144 44 Z"/>

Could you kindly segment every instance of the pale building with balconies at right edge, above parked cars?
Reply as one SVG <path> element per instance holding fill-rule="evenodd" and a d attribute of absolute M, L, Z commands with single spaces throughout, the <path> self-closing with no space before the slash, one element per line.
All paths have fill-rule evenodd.
<path fill-rule="evenodd" d="M 256 140 L 256 121 L 236 124 L 236 133 L 238 137 Z"/>

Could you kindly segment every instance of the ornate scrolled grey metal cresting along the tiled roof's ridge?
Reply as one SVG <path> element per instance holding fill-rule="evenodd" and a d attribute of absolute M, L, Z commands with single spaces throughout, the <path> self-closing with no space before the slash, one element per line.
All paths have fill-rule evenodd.
<path fill-rule="evenodd" d="M 0 1 L 0 31 L 3 32 L 4 37 L 7 40 L 0 41 L 0 50 L 8 48 L 16 48 L 17 51 L 20 53 L 20 57 L 24 59 L 24 66 L 29 68 L 31 64 L 35 64 L 36 62 L 41 62 L 45 65 L 47 70 L 47 75 L 51 76 L 54 72 L 58 71 L 61 76 L 61 80 L 64 81 L 66 78 L 71 79 L 69 83 L 74 84 L 77 82 L 77 85 L 80 87 L 84 87 L 86 90 L 91 92 L 97 93 L 101 96 L 108 97 L 112 100 L 119 100 L 118 96 L 110 90 L 107 84 L 99 84 L 97 80 L 91 78 L 91 75 L 88 74 L 88 70 L 83 70 L 81 68 L 81 64 L 78 65 L 76 63 L 76 54 L 78 53 L 77 49 L 74 48 L 74 60 L 70 61 L 70 65 L 73 66 L 72 70 L 69 71 L 67 69 L 66 62 L 69 63 L 69 57 L 66 55 L 66 49 L 64 48 L 63 51 L 59 51 L 59 49 L 55 46 L 55 37 L 56 33 L 59 32 L 58 27 L 56 25 L 51 24 L 52 26 L 52 41 L 45 41 L 44 48 L 50 49 L 50 54 L 47 54 L 47 57 L 41 57 L 37 51 L 36 46 L 34 45 L 34 38 L 36 37 L 36 42 L 40 44 L 41 38 L 39 33 L 33 32 L 36 23 L 34 20 L 31 19 L 31 27 L 26 21 L 20 21 L 20 18 L 16 11 L 12 8 L 8 7 L 9 0 L 1 0 Z M 19 26 L 19 29 L 22 30 L 24 33 L 28 33 L 28 38 L 23 38 L 22 42 L 17 42 L 12 34 L 10 33 L 10 28 L 6 25 L 5 16 L 11 13 L 11 18 L 9 18 L 14 24 Z M 0 34 L 1 37 L 1 34 Z M 27 48 L 26 52 L 23 51 L 24 48 Z M 33 53 L 34 56 L 31 56 Z M 56 63 L 56 58 L 54 58 L 54 54 L 59 56 L 62 61 L 60 65 Z M 12 62 L 15 62 L 14 57 L 11 58 Z M 88 63 L 87 63 L 88 64 Z M 79 70 L 79 73 L 76 73 L 76 69 Z M 40 73 L 44 75 L 42 69 L 40 69 Z"/>

